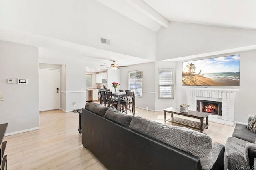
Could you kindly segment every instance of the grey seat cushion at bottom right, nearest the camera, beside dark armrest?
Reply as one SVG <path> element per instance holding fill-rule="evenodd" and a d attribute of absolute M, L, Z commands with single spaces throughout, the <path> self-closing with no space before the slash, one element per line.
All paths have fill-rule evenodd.
<path fill-rule="evenodd" d="M 235 170 L 237 169 L 238 165 L 246 166 L 244 158 L 246 143 L 248 143 L 248 141 L 244 141 L 235 137 L 229 137 L 227 139 L 224 156 L 225 170 L 227 168 Z"/>

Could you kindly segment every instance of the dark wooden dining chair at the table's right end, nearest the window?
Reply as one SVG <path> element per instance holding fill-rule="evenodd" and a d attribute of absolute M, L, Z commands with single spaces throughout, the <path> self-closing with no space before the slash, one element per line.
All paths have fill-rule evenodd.
<path fill-rule="evenodd" d="M 120 100 L 120 111 L 127 114 L 127 110 L 130 112 L 132 111 L 132 115 L 134 115 L 134 108 L 133 108 L 133 98 L 134 98 L 134 92 L 126 92 L 125 100 Z M 132 106 L 132 107 L 131 107 Z"/>

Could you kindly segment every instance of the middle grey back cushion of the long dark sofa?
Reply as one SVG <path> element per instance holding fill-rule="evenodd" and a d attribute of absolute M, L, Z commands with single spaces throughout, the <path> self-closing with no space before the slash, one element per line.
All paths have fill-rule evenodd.
<path fill-rule="evenodd" d="M 105 117 L 121 125 L 124 125 L 125 127 L 129 127 L 133 116 L 121 113 L 116 109 L 108 109 L 106 111 Z"/>

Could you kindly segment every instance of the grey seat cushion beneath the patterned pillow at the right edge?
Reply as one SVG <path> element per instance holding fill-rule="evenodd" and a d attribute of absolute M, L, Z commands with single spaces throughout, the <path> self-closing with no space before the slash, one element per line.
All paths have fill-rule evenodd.
<path fill-rule="evenodd" d="M 253 133 L 249 129 L 246 129 L 247 125 L 236 124 L 232 137 L 243 139 L 245 141 L 254 143 L 256 133 Z"/>

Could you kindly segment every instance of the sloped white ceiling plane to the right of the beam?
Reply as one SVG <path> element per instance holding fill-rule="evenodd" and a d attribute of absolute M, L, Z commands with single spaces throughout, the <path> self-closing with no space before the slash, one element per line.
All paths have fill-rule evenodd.
<path fill-rule="evenodd" d="M 169 21 L 256 29 L 256 0 L 143 0 Z"/>

